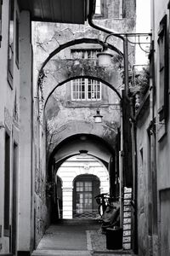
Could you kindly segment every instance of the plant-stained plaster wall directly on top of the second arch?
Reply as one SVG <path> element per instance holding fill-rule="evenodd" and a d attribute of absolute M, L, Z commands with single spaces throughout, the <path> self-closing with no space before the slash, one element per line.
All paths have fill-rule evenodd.
<path fill-rule="evenodd" d="M 49 61 L 44 69 L 45 78 L 42 83 L 42 96 L 44 102 L 46 102 L 50 92 L 54 90 L 58 84 L 80 76 L 103 80 L 106 83 L 111 84 L 111 87 L 117 90 L 120 94 L 120 89 L 118 87 L 122 84 L 122 77 L 118 65 L 119 63 L 117 64 L 116 62 L 109 67 L 99 67 L 97 60 L 66 59 Z M 105 94 L 103 96 L 105 97 Z"/>

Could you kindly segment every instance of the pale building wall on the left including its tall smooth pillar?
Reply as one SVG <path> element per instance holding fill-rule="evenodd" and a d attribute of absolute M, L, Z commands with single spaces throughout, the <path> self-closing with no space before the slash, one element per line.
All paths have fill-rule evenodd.
<path fill-rule="evenodd" d="M 32 180 L 32 170 L 35 169 L 35 161 L 32 161 L 34 138 L 32 136 L 31 20 L 29 12 L 20 12 L 18 2 L 14 0 L 14 44 L 11 45 L 13 50 L 11 59 L 13 79 L 8 80 L 9 1 L 2 2 L 2 41 L 0 46 L 0 254 L 13 251 L 15 255 L 17 251 L 18 255 L 23 255 L 23 252 L 29 253 L 34 245 L 34 180 Z M 16 19 L 19 21 L 18 31 Z M 19 60 L 17 59 L 17 45 L 19 45 Z M 10 139 L 9 153 L 6 152 L 6 155 L 8 155 L 8 159 L 6 159 L 8 168 L 6 169 L 5 132 L 8 133 Z M 37 145 L 35 145 L 35 148 L 37 148 Z M 43 165 L 44 163 L 42 163 L 42 167 L 45 169 Z M 8 177 L 7 169 L 9 170 Z M 9 201 L 9 204 L 7 204 L 7 201 Z M 4 211 L 5 206 L 9 207 L 6 211 Z M 4 220 L 7 219 L 8 214 L 10 232 L 5 234 Z"/>

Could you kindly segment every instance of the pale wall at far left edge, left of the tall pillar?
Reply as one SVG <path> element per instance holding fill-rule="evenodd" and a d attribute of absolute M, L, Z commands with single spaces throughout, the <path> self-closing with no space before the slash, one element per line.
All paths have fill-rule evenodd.
<path fill-rule="evenodd" d="M 9 1 L 3 1 L 2 5 L 2 41 L 0 46 L 0 253 L 8 253 L 9 251 L 9 237 L 4 236 L 4 178 L 5 178 L 5 132 L 8 132 L 10 137 L 9 145 L 9 224 L 12 224 L 12 207 L 13 207 L 13 181 L 14 171 L 16 172 L 16 187 L 18 187 L 19 175 L 19 147 L 16 149 L 16 169 L 14 170 L 14 143 L 19 145 L 19 98 L 20 98 L 20 67 L 16 64 L 15 47 L 16 41 L 14 39 L 14 55 L 13 55 L 13 83 L 8 83 L 8 5 Z M 16 12 L 20 17 L 19 7 L 17 1 L 14 1 L 14 38 L 15 38 L 15 19 Z M 16 210 L 17 211 L 17 210 Z M 7 214 L 7 212 L 5 213 Z M 17 212 L 18 214 L 18 212 Z"/>

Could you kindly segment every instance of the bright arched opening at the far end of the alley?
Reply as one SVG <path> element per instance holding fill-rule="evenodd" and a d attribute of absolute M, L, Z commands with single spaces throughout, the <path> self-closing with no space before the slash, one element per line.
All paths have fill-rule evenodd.
<path fill-rule="evenodd" d="M 74 155 L 59 166 L 56 177 L 57 205 L 51 212 L 54 220 L 99 217 L 95 196 L 110 191 L 109 172 L 101 161 L 88 154 Z"/>

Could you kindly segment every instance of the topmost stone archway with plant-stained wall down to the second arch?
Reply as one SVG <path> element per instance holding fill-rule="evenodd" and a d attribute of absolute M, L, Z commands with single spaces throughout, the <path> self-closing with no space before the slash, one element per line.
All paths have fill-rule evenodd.
<path fill-rule="evenodd" d="M 117 88 L 122 84 L 122 76 L 120 75 L 122 68 L 122 52 L 111 44 L 108 44 L 108 47 L 114 50 L 117 53 L 117 56 L 110 67 L 99 67 L 97 60 L 52 59 L 53 56 L 58 54 L 62 49 L 82 43 L 104 44 L 103 41 L 97 38 L 79 38 L 72 40 L 59 45 L 59 47 L 54 49 L 54 51 L 50 53 L 47 59 L 42 63 L 37 82 L 40 109 L 44 110 L 46 103 L 48 102 L 48 98 L 57 87 L 78 78 L 98 80 L 110 87 L 111 90 L 114 90 L 120 99 L 122 98 Z"/>

